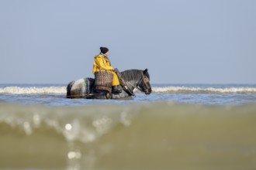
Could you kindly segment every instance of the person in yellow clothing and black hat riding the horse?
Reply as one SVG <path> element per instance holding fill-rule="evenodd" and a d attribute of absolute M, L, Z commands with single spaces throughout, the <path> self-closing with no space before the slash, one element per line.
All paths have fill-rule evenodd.
<path fill-rule="evenodd" d="M 116 75 L 116 72 L 114 68 L 111 66 L 108 58 L 109 49 L 106 47 L 100 47 L 99 49 L 101 53 L 95 56 L 92 73 L 94 74 L 99 70 L 107 70 L 109 73 L 112 73 L 112 93 L 121 93 L 122 87 L 120 86 L 118 76 Z"/>

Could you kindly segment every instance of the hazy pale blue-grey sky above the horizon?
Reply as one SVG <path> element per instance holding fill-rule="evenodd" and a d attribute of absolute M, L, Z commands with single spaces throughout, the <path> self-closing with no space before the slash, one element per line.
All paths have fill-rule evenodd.
<path fill-rule="evenodd" d="M 0 83 L 93 77 L 100 46 L 151 83 L 256 83 L 256 1 L 0 0 Z"/>

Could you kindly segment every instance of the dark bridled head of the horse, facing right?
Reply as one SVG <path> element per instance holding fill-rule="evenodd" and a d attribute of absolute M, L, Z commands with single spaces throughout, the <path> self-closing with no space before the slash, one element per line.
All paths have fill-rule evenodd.
<path fill-rule="evenodd" d="M 142 77 L 141 80 L 137 83 L 137 88 L 145 94 L 151 93 L 152 90 L 150 86 L 150 75 L 147 69 L 142 72 Z"/>

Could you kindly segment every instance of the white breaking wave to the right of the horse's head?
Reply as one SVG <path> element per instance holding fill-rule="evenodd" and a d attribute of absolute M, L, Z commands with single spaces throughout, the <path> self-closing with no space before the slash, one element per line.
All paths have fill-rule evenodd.
<path fill-rule="evenodd" d="M 153 87 L 155 93 L 256 93 L 254 87 Z"/>

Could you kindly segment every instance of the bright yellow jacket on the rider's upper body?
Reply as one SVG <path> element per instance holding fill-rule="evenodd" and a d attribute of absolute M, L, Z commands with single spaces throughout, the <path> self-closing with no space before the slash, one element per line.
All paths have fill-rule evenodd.
<path fill-rule="evenodd" d="M 114 70 L 114 68 L 109 63 L 109 59 L 107 59 L 102 54 L 96 55 L 94 57 L 92 73 L 94 74 L 99 70 Z"/>

